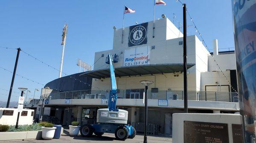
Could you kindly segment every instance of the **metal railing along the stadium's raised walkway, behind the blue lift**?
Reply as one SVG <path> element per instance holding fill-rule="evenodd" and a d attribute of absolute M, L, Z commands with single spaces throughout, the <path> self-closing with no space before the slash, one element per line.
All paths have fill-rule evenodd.
<path fill-rule="evenodd" d="M 110 90 L 79 90 L 42 95 L 48 99 L 95 99 L 108 98 Z M 144 90 L 117 90 L 118 98 L 143 99 Z M 239 102 L 239 95 L 233 92 L 188 91 L 188 100 Z M 183 100 L 182 90 L 148 90 L 148 99 Z"/>

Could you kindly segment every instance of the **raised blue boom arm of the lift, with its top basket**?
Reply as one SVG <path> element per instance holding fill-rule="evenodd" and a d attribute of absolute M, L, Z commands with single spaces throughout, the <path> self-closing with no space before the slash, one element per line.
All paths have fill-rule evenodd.
<path fill-rule="evenodd" d="M 108 109 L 109 111 L 118 111 L 118 108 L 116 108 L 116 99 L 117 99 L 116 76 L 115 76 L 115 69 L 113 67 L 113 58 L 111 54 L 108 54 L 106 63 L 109 64 L 110 78 L 111 78 L 111 90 L 109 92 L 109 98 L 108 98 Z"/>

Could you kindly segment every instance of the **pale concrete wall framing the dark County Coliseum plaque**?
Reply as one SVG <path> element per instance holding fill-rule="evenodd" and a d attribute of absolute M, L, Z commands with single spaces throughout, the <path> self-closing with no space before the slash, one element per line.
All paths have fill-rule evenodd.
<path fill-rule="evenodd" d="M 242 118 L 239 114 L 177 113 L 173 114 L 172 117 L 172 143 L 184 143 L 184 121 L 227 123 L 229 143 L 233 143 L 232 124 L 242 124 Z"/>

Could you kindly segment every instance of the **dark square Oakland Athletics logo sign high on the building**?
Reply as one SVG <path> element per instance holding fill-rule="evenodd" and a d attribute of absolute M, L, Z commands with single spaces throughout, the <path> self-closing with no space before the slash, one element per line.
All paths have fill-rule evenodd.
<path fill-rule="evenodd" d="M 142 45 L 147 43 L 148 23 L 134 25 L 130 27 L 128 46 Z"/>

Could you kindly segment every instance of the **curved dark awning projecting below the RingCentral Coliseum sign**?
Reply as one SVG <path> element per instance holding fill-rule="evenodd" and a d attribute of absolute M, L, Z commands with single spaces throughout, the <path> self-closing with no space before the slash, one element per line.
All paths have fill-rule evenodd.
<path fill-rule="evenodd" d="M 187 64 L 187 69 L 195 64 Z M 115 68 L 115 76 L 142 76 L 163 73 L 183 72 L 183 64 L 145 64 L 135 66 L 124 66 Z M 81 73 L 80 76 L 90 76 L 95 79 L 109 78 L 109 68 L 91 70 Z"/>

